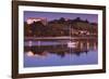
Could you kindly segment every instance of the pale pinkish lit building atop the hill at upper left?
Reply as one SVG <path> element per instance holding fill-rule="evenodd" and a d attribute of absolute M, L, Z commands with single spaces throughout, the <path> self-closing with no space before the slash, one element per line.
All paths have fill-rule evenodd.
<path fill-rule="evenodd" d="M 33 24 L 34 22 L 40 22 L 43 23 L 44 25 L 47 25 L 47 18 L 44 18 L 44 17 L 29 17 L 27 18 L 27 24 Z"/>

